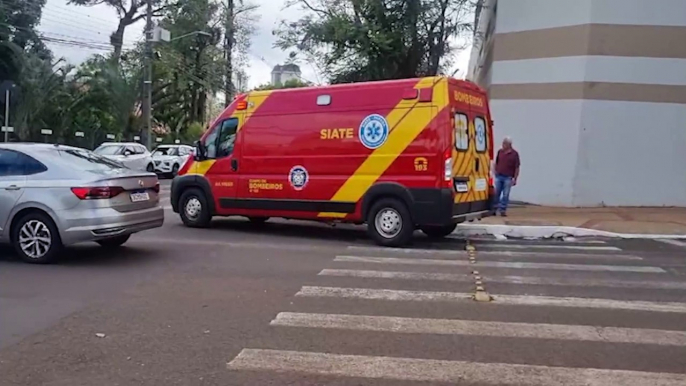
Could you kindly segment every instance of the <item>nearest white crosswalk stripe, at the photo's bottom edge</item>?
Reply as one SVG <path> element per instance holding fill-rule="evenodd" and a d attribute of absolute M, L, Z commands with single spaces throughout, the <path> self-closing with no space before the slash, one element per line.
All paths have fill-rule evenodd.
<path fill-rule="evenodd" d="M 415 382 L 478 383 L 530 386 L 683 386 L 686 375 L 628 370 L 548 367 L 341 355 L 315 352 L 243 349 L 227 364 L 229 370 L 263 370 L 305 374 L 394 379 Z"/>

